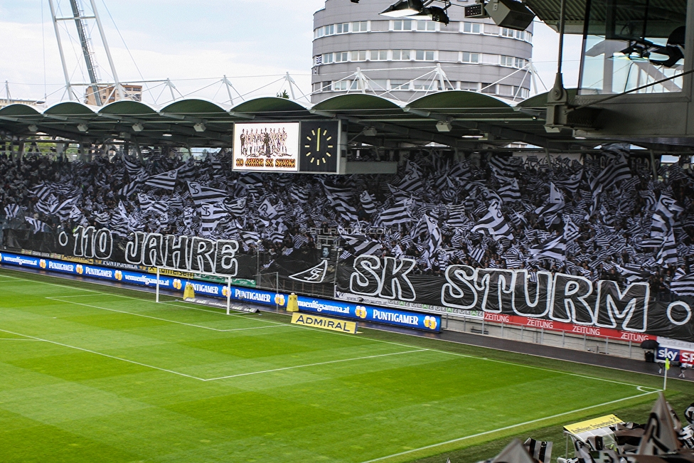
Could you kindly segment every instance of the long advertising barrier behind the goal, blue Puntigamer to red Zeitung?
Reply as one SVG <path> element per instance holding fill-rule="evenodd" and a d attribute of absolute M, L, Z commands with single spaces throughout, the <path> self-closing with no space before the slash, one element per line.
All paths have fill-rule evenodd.
<path fill-rule="evenodd" d="M 181 292 L 182 294 L 186 283 L 190 282 L 196 295 L 206 297 L 208 300 L 213 300 L 213 298 L 223 299 L 224 304 L 213 305 L 215 307 L 223 307 L 227 313 L 235 309 L 232 302 L 250 302 L 268 307 L 286 308 L 289 300 L 287 292 L 280 292 L 279 289 L 281 288 L 277 284 L 278 276 L 274 273 L 262 275 L 259 280 L 265 282 L 265 284 L 262 284 L 263 288 L 260 289 L 239 287 L 232 284 L 233 281 L 237 281 L 233 277 L 213 272 L 196 272 L 194 275 L 198 275 L 198 278 L 205 276 L 213 277 L 217 282 L 201 281 L 191 277 L 194 276 L 193 274 L 181 272 L 181 270 L 172 267 L 159 267 L 156 269 L 156 274 L 153 274 L 145 271 L 121 270 L 113 267 L 8 252 L 0 254 L 0 263 L 2 265 L 16 265 L 18 267 L 34 268 L 48 272 L 149 287 L 154 289 L 157 302 L 162 291 L 166 290 L 169 293 Z M 275 284 L 277 286 L 274 286 Z M 340 295 L 344 296 L 344 294 Z M 416 312 L 416 309 L 413 310 L 412 307 L 400 309 L 379 306 L 373 304 L 378 299 L 368 297 L 359 297 L 354 298 L 356 300 L 346 301 L 299 295 L 297 299 L 301 312 L 339 316 L 356 321 L 371 321 L 424 331 L 438 332 L 442 329 L 447 329 L 450 331 L 471 332 L 503 339 L 594 351 L 629 358 L 644 358 L 643 351 L 636 348 L 643 341 L 653 339 L 661 344 L 668 344 L 669 341 L 673 341 L 664 336 L 656 336 L 654 334 L 634 333 L 604 327 L 582 326 L 561 321 L 474 310 L 437 307 L 435 309 L 444 310 L 437 314 L 432 314 L 431 312 L 420 313 Z M 434 308 L 427 307 L 427 309 L 432 310 Z M 694 347 L 690 350 L 694 351 Z M 687 351 L 687 348 L 684 351 Z M 668 352 L 668 356 L 674 355 L 672 350 Z M 690 353 L 686 353 L 686 355 L 690 355 Z M 694 356 L 694 353 L 691 355 Z"/>

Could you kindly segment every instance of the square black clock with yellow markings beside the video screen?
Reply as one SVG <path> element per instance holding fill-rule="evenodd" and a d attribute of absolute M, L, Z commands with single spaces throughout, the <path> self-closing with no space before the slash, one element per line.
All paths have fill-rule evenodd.
<path fill-rule="evenodd" d="M 301 122 L 299 171 L 336 172 L 339 130 L 338 121 Z"/>

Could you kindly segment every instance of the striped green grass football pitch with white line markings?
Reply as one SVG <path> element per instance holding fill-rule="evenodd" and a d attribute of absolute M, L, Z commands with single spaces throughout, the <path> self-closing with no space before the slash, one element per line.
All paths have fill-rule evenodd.
<path fill-rule="evenodd" d="M 0 294 L 1 462 L 477 461 L 661 381 L 4 269 Z"/>

